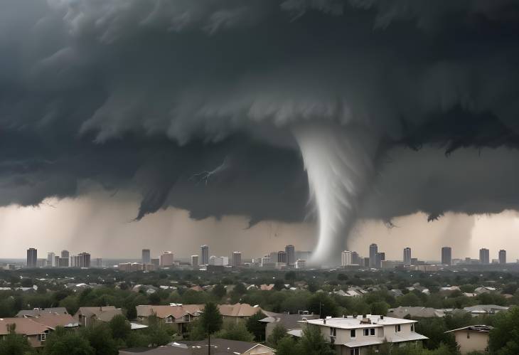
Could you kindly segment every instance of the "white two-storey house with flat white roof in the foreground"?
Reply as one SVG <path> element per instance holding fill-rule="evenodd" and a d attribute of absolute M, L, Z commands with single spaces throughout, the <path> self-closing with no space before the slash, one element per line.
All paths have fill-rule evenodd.
<path fill-rule="evenodd" d="M 321 333 L 334 344 L 337 354 L 364 355 L 384 341 L 404 344 L 427 339 L 414 332 L 417 321 L 366 314 L 342 318 L 309 319 L 306 327 L 319 327 Z"/>

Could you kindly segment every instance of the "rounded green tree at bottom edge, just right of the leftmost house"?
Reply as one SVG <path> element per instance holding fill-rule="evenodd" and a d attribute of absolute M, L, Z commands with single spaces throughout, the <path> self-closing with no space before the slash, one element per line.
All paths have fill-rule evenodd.
<path fill-rule="evenodd" d="M 57 327 L 46 339 L 45 355 L 94 355 L 95 350 L 79 333 Z M 1 353 L 0 351 L 0 354 Z"/>

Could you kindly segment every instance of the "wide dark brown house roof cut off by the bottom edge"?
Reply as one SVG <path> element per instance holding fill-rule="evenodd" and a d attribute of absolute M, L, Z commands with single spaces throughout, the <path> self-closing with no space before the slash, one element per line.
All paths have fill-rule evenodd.
<path fill-rule="evenodd" d="M 263 344 L 228 339 L 210 339 L 211 355 L 274 355 L 275 350 Z M 154 349 L 136 348 L 119 350 L 119 355 L 205 355 L 208 340 L 176 341 Z"/>

